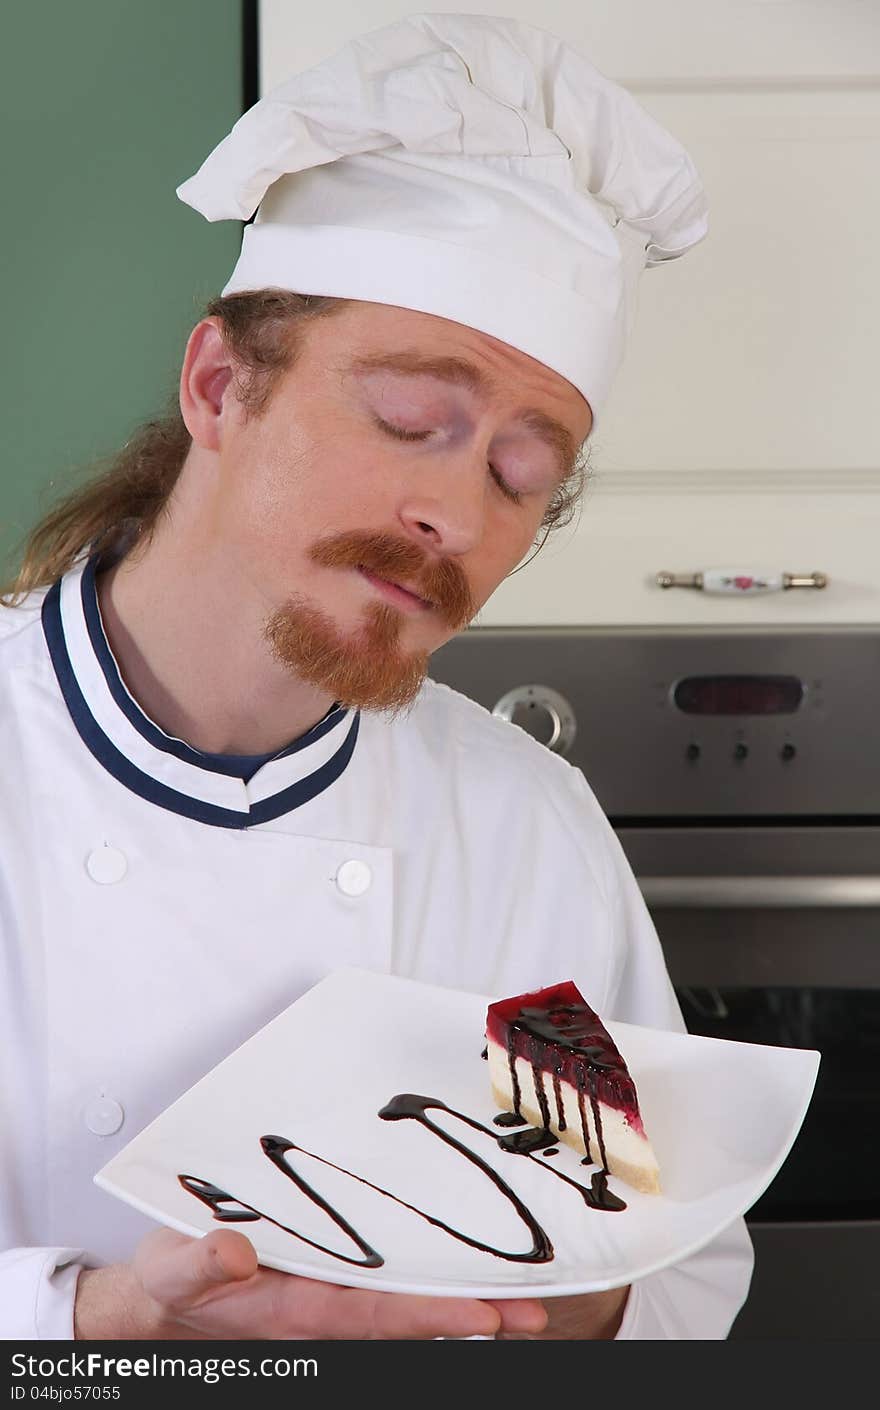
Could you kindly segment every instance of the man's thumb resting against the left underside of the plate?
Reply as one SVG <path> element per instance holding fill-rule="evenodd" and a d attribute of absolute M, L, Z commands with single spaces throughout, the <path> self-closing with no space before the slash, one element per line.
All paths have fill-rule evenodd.
<path fill-rule="evenodd" d="M 182 1311 L 224 1285 L 252 1277 L 258 1259 L 251 1241 L 236 1230 L 213 1230 L 203 1238 L 161 1230 L 140 1244 L 134 1266 L 149 1297 Z"/>

